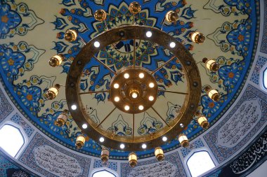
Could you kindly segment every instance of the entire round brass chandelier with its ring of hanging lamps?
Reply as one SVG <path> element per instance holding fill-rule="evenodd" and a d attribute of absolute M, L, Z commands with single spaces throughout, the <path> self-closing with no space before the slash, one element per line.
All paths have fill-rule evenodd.
<path fill-rule="evenodd" d="M 141 11 L 141 6 L 137 2 L 133 2 L 129 5 L 129 11 L 132 15 L 136 15 Z M 94 14 L 96 20 L 105 22 L 107 13 L 105 10 L 96 10 Z M 164 19 L 164 22 L 176 22 L 178 20 L 178 13 L 170 10 Z M 163 23 L 164 23 L 163 22 Z M 105 22 L 106 24 L 106 22 Z M 107 148 L 121 149 L 126 151 L 138 151 L 144 149 L 155 148 L 155 156 L 157 160 L 164 160 L 164 152 L 161 147 L 166 141 L 174 139 L 178 136 L 178 141 L 181 146 L 189 146 L 187 136 L 183 134 L 183 129 L 186 127 L 193 117 L 197 117 L 197 122 L 204 129 L 209 127 L 209 122 L 204 115 L 201 115 L 197 111 L 197 107 L 200 102 L 200 94 L 202 92 L 202 84 L 200 79 L 200 73 L 197 68 L 197 64 L 188 50 L 185 49 L 183 43 L 180 43 L 173 36 L 162 31 L 162 29 L 156 29 L 154 27 L 146 27 L 135 24 L 133 17 L 133 25 L 126 25 L 108 29 L 105 25 L 106 31 L 99 34 L 91 41 L 85 43 L 79 36 L 76 30 L 68 29 L 65 33 L 66 41 L 75 41 L 80 38 L 84 42 L 84 47 L 75 57 L 70 66 L 69 73 L 67 74 L 67 80 L 65 85 L 65 94 L 67 99 L 67 106 L 69 113 L 75 120 L 82 134 L 77 136 L 76 147 L 82 148 L 86 140 L 93 139 L 100 145 Z M 200 32 L 190 33 L 188 35 L 191 41 L 201 44 L 204 42 L 205 37 Z M 105 62 L 98 59 L 96 54 L 107 46 L 114 46 L 115 43 L 120 41 L 133 40 L 133 58 L 129 61 L 129 66 L 114 71 Z M 169 50 L 172 57 L 164 62 L 162 65 L 157 66 L 157 69 L 150 71 L 142 66 L 136 65 L 136 41 L 150 41 L 156 45 L 161 45 L 163 48 Z M 64 56 L 62 54 L 56 55 L 49 59 L 49 64 L 53 67 L 59 66 L 63 62 Z M 92 59 L 95 59 L 99 64 L 103 65 L 105 69 L 108 69 L 112 74 L 112 79 L 108 85 L 107 90 L 81 92 L 80 79 L 82 72 L 86 64 L 89 64 Z M 156 79 L 156 73 L 161 71 L 164 66 L 167 66 L 171 61 L 178 60 L 183 67 L 186 80 L 186 91 L 181 92 L 179 90 L 166 90 L 160 89 L 158 81 Z M 218 71 L 219 64 L 212 59 L 204 58 L 203 62 L 207 65 L 207 69 L 211 71 Z M 54 99 L 58 94 L 60 85 L 55 85 L 48 90 L 46 96 L 48 99 Z M 205 87 L 205 92 L 213 101 L 219 101 L 220 94 L 217 90 L 211 89 L 211 87 Z M 110 111 L 105 118 L 100 122 L 95 122 L 91 119 L 90 115 L 86 113 L 86 105 L 83 104 L 82 97 L 84 94 L 97 94 L 107 92 L 110 95 L 109 101 L 112 102 L 114 108 Z M 175 95 L 183 95 L 183 106 L 176 115 L 176 118 L 167 122 L 159 110 L 153 107 L 157 101 L 159 101 L 159 92 L 169 92 Z M 181 99 L 181 97 L 175 97 Z M 89 101 L 90 102 L 90 101 Z M 134 125 L 136 122 L 136 115 L 144 113 L 150 110 L 155 113 L 158 118 L 164 122 L 165 126 L 158 129 L 155 132 L 150 132 L 142 136 L 135 136 Z M 103 129 L 101 125 L 110 118 L 110 115 L 114 111 L 121 111 L 131 116 L 132 134 L 131 136 L 119 136 L 115 132 L 109 132 Z M 60 114 L 56 120 L 55 125 L 59 127 L 65 124 L 67 110 Z M 101 160 L 107 162 L 109 159 L 110 151 L 103 147 L 101 152 Z M 129 164 L 131 167 L 137 164 L 136 153 L 129 154 Z"/>

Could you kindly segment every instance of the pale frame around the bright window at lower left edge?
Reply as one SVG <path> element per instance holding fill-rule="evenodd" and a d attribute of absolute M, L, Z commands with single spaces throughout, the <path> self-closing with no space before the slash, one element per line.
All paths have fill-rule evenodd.
<path fill-rule="evenodd" d="M 2 124 L 0 125 L 0 130 L 5 126 L 5 125 L 9 125 L 11 127 L 14 127 L 15 129 L 18 129 L 18 131 L 20 132 L 22 139 L 24 141 L 24 143 L 22 144 L 22 146 L 20 147 L 20 149 L 18 150 L 18 152 L 15 154 L 15 156 L 13 157 L 12 155 L 10 155 L 8 152 L 6 152 L 6 150 L 4 150 L 4 148 L 0 149 L 2 150 L 2 152 L 4 152 L 6 155 L 13 157 L 15 159 L 18 159 L 18 157 L 20 156 L 20 154 L 22 153 L 22 151 L 25 149 L 25 147 L 27 146 L 28 143 L 28 139 L 27 139 L 27 135 L 25 134 L 24 130 L 22 129 L 22 127 L 20 127 L 20 125 L 15 124 L 14 122 L 11 121 L 6 121 L 6 122 L 2 122 Z"/>

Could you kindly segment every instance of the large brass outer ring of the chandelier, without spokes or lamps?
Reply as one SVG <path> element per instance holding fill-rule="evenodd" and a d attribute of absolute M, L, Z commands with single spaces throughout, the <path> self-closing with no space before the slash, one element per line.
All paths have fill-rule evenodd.
<path fill-rule="evenodd" d="M 149 38 L 145 35 L 147 31 L 152 32 L 152 36 Z M 169 127 L 165 126 L 153 134 L 143 136 L 117 136 L 116 134 L 97 127 L 96 123 L 88 118 L 89 115 L 86 113 L 86 109 L 84 108 L 79 95 L 79 80 L 84 66 L 91 61 L 91 58 L 102 48 L 112 45 L 112 43 L 129 39 L 147 40 L 167 48 L 181 62 L 185 72 L 185 77 L 188 80 L 188 94 L 185 97 L 185 101 L 181 107 L 180 113 L 178 113 L 174 120 L 169 122 Z M 99 48 L 96 48 L 93 45 L 96 41 L 100 42 Z M 171 42 L 176 43 L 174 48 L 170 47 L 169 44 Z M 126 151 L 143 151 L 143 148 L 141 147 L 143 143 L 146 143 L 147 149 L 162 146 L 164 143 L 166 143 L 162 141 L 162 136 L 167 136 L 169 140 L 176 138 L 176 136 L 183 131 L 183 127 L 181 127 L 180 124 L 182 123 L 186 127 L 193 119 L 200 102 L 201 91 L 201 78 L 197 64 L 193 59 L 193 56 L 188 50 L 185 49 L 183 44 L 164 31 L 153 27 L 145 27 L 140 25 L 126 25 L 117 27 L 115 29 L 105 31 L 95 38 L 92 38 L 91 41 L 86 43 L 86 45 L 74 58 L 74 61 L 72 62 L 70 70 L 67 74 L 65 87 L 67 106 L 72 118 L 80 129 L 82 129 L 82 125 L 84 125 L 84 123 L 87 123 L 88 125 L 86 129 L 82 129 L 82 132 L 94 141 L 98 142 L 100 145 L 108 148 L 119 150 L 120 144 L 124 143 L 124 150 Z M 72 105 L 76 105 L 77 109 L 72 110 Z M 100 137 L 104 137 L 105 141 L 101 143 L 99 141 Z"/>

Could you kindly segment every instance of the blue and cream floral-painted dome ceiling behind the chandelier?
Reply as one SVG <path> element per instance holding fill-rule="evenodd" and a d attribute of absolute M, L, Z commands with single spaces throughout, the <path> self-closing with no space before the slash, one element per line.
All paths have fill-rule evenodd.
<path fill-rule="evenodd" d="M 161 29 L 190 50 L 201 75 L 202 88 L 211 86 L 219 90 L 221 100 L 214 102 L 202 90 L 199 110 L 214 124 L 238 96 L 242 83 L 246 80 L 254 44 L 258 33 L 256 13 L 259 4 L 254 1 L 205 0 L 205 1 L 138 1 L 142 10 L 135 15 L 135 23 Z M 36 127 L 55 141 L 75 148 L 74 143 L 81 129 L 77 127 L 71 115 L 68 115 L 64 127 L 57 127 L 54 121 L 67 108 L 65 81 L 72 61 L 84 46 L 84 41 L 101 34 L 103 31 L 133 24 L 129 12 L 131 1 L 113 0 L 63 0 L 63 1 L 5 1 L 0 6 L 0 58 L 1 82 L 17 107 Z M 93 13 L 102 8 L 108 13 L 105 22 L 98 22 Z M 169 10 L 179 14 L 178 22 L 162 26 L 164 15 Z M 64 40 L 67 29 L 79 31 L 80 38 L 68 43 Z M 188 39 L 192 31 L 200 31 L 206 36 L 202 45 Z M 82 39 L 84 41 L 82 41 Z M 48 65 L 48 59 L 56 54 L 65 55 L 63 64 L 57 68 Z M 136 40 L 136 65 L 153 71 L 172 56 L 169 50 L 155 43 Z M 132 63 L 133 40 L 121 41 L 109 45 L 98 52 L 97 57 L 112 70 L 119 71 Z M 214 59 L 220 64 L 218 72 L 209 71 L 202 58 Z M 112 74 L 108 69 L 91 59 L 84 68 L 81 77 L 81 92 L 108 90 Z M 178 59 L 155 74 L 159 88 L 186 92 L 186 80 L 183 66 Z M 56 83 L 63 85 L 56 99 L 47 100 L 45 92 Z M 157 132 L 180 113 L 185 95 L 159 92 L 155 111 L 148 109 L 136 115 L 136 123 L 131 115 L 114 111 L 103 122 L 102 129 L 115 132 L 119 136 L 142 136 Z M 114 108 L 110 94 L 84 94 L 82 102 L 86 113 L 94 122 L 101 122 Z M 203 132 L 195 120 L 185 127 L 184 133 L 193 139 Z M 168 141 L 162 148 L 165 152 L 177 148 L 176 139 Z M 82 153 L 99 156 L 101 147 L 90 139 L 84 145 Z M 111 150 L 111 158 L 125 159 L 129 152 Z M 138 157 L 150 157 L 154 150 L 137 152 Z"/>

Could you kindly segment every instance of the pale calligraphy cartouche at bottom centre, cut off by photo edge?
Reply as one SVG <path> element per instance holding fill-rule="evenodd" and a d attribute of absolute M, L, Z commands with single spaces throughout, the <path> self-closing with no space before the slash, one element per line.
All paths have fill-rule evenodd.
<path fill-rule="evenodd" d="M 160 177 L 160 176 L 174 176 L 176 167 L 170 162 L 157 162 L 154 164 L 143 165 L 132 169 L 128 177 Z"/>

